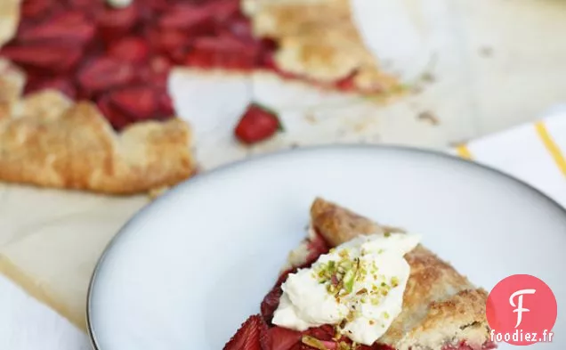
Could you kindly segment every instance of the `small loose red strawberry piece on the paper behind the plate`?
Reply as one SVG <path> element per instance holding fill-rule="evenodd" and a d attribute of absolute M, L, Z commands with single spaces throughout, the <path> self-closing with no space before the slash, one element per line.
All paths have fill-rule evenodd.
<path fill-rule="evenodd" d="M 277 114 L 252 103 L 239 120 L 234 131 L 236 138 L 243 143 L 252 144 L 267 140 L 281 128 Z"/>

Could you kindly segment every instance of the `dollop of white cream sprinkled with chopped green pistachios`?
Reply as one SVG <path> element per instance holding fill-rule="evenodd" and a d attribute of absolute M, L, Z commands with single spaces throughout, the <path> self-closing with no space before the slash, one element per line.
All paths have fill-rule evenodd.
<path fill-rule="evenodd" d="M 336 325 L 367 346 L 384 335 L 401 312 L 410 266 L 404 255 L 420 236 L 359 236 L 319 256 L 311 268 L 290 273 L 281 285 L 272 322 L 291 330 Z"/>

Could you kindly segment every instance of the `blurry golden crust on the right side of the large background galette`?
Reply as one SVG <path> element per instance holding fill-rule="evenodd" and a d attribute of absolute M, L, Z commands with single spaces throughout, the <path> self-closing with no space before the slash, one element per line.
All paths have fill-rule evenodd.
<path fill-rule="evenodd" d="M 257 37 L 278 43 L 277 67 L 321 83 L 353 77 L 360 91 L 388 91 L 399 81 L 378 67 L 354 24 L 350 0 L 243 0 Z"/>

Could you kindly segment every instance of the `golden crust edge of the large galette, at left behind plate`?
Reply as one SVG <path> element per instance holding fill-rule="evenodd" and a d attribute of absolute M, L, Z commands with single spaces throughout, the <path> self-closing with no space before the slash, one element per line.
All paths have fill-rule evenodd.
<path fill-rule="evenodd" d="M 194 171 L 181 119 L 117 134 L 91 102 L 56 91 L 21 97 L 23 73 L 0 59 L 0 181 L 111 194 L 174 185 Z"/>

